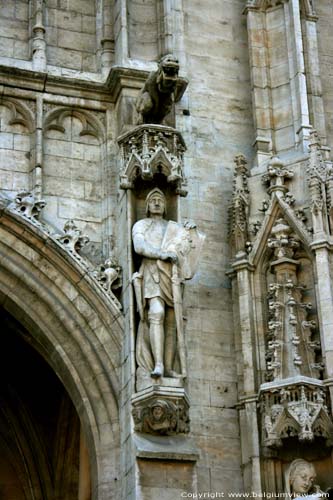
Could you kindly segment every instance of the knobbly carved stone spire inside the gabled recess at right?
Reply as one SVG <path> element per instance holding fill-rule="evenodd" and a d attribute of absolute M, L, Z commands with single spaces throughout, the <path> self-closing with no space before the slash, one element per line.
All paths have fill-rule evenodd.
<path fill-rule="evenodd" d="M 320 378 L 321 346 L 315 340 L 317 323 L 309 319 L 312 304 L 303 302 L 306 289 L 298 283 L 294 253 L 300 242 L 282 218 L 276 221 L 268 239 L 274 250 L 271 269 L 275 281 L 268 287 L 268 329 L 266 333 L 266 379 L 282 380 L 297 375 Z"/>

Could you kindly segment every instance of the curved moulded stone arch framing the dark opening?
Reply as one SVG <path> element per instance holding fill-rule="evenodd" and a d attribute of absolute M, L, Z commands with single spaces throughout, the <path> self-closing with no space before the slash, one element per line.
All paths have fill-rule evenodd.
<path fill-rule="evenodd" d="M 93 498 L 113 498 L 123 333 L 119 310 L 47 233 L 4 206 L 0 304 L 29 332 L 29 342 L 74 403 L 87 438 Z"/>

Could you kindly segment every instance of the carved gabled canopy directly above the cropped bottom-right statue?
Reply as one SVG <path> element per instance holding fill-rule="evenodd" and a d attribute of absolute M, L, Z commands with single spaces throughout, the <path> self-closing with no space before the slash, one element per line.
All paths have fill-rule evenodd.
<path fill-rule="evenodd" d="M 327 407 L 326 388 L 307 377 L 285 384 L 263 384 L 260 391 L 262 440 L 268 448 L 279 448 L 283 440 L 297 437 L 311 442 L 324 438 L 333 444 L 333 424 Z"/>

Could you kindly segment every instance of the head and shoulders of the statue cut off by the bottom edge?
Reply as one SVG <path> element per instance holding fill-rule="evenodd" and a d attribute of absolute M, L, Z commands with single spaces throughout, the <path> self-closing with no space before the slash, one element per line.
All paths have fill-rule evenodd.
<path fill-rule="evenodd" d="M 311 462 L 297 458 L 291 462 L 286 475 L 287 493 L 291 498 L 306 497 L 308 500 L 324 498 L 323 492 L 317 484 L 316 471 Z"/>

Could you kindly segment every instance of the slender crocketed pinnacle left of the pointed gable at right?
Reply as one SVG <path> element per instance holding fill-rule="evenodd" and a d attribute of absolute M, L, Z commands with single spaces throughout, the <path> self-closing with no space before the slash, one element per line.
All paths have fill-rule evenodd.
<path fill-rule="evenodd" d="M 250 208 L 250 192 L 248 188 L 249 170 L 243 155 L 235 157 L 235 177 L 231 214 L 231 235 L 236 257 L 242 257 L 247 250 L 248 216 Z"/>

